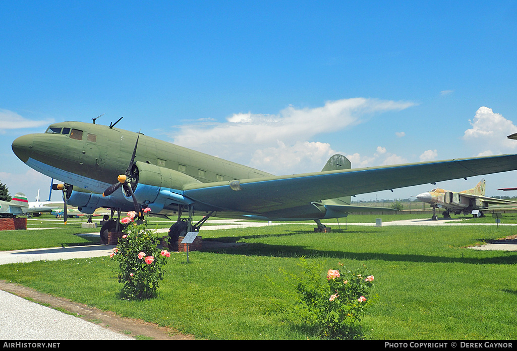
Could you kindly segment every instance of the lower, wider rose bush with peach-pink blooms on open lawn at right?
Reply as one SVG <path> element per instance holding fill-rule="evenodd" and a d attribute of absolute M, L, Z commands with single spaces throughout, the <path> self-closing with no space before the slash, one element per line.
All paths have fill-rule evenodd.
<path fill-rule="evenodd" d="M 301 258 L 302 275 L 295 278 L 299 304 L 306 309 L 324 339 L 360 339 L 359 322 L 371 305 L 370 291 L 374 277 L 366 267 L 353 272 L 342 263 L 340 268 L 329 269 L 327 279 L 322 280 L 319 267 L 309 266 Z M 366 277 L 366 278 L 364 278 Z"/>

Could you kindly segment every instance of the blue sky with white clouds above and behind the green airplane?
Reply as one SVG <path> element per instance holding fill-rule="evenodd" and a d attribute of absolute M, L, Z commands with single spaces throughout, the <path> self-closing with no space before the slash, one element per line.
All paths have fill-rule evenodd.
<path fill-rule="evenodd" d="M 333 153 L 353 167 L 514 153 L 516 14 L 507 1 L 3 1 L 0 182 L 48 194 L 12 140 L 101 114 L 275 174 Z M 516 174 L 485 175 L 487 195 L 509 195 L 496 189 Z"/>

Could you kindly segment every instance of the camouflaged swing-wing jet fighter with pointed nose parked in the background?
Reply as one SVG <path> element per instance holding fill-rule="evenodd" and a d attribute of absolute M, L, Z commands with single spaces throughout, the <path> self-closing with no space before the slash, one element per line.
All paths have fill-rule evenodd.
<path fill-rule="evenodd" d="M 459 215 L 471 214 L 472 211 L 479 211 L 478 216 L 483 216 L 483 210 L 487 210 L 490 205 L 517 205 L 517 201 L 500 200 L 484 196 L 485 180 L 482 179 L 474 188 L 463 190 L 463 192 L 452 192 L 436 188 L 427 193 L 417 195 L 417 199 L 427 202 L 433 208 L 433 220 L 436 220 L 436 209 L 443 209 L 444 218 L 450 218 L 450 214 Z"/>

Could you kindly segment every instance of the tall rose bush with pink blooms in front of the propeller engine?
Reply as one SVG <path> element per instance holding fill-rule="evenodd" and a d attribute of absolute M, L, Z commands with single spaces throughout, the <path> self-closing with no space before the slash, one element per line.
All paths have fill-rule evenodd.
<path fill-rule="evenodd" d="M 148 212 L 146 210 L 144 213 Z M 126 299 L 146 299 L 156 296 L 159 282 L 165 273 L 163 267 L 170 253 L 166 250 L 160 252 L 156 231 L 147 228 L 147 220 L 143 224 L 136 224 L 135 215 L 131 211 L 128 217 L 120 220 L 128 226 L 110 257 L 118 262 L 117 279 L 124 284 L 121 296 Z"/>

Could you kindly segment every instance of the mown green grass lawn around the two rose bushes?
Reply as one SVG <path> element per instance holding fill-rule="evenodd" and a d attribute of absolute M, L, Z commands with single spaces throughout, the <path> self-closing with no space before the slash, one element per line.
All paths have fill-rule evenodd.
<path fill-rule="evenodd" d="M 306 256 L 322 279 L 338 262 L 366 265 L 375 276 L 377 296 L 361 322 L 367 339 L 517 339 L 517 252 L 466 248 L 512 234 L 514 227 L 495 225 L 202 231 L 204 240 L 248 245 L 191 252 L 189 264 L 172 254 L 159 296 L 146 301 L 118 297 L 109 258 L 2 265 L 0 279 L 199 339 L 317 339 L 295 313 L 286 280 Z"/>

